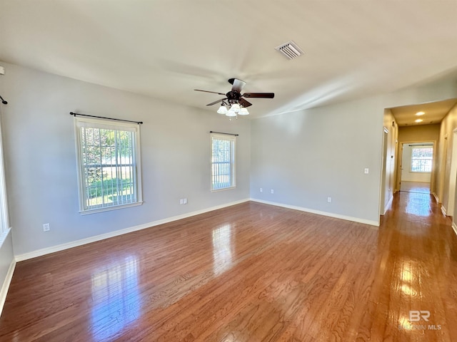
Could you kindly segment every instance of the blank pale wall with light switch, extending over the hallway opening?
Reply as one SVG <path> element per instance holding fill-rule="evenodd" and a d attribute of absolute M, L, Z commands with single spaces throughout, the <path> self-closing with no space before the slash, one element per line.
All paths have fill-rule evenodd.
<path fill-rule="evenodd" d="M 384 109 L 456 95 L 456 81 L 445 78 L 386 95 L 253 120 L 251 197 L 378 224 Z M 363 173 L 365 167 L 368 175 Z"/>

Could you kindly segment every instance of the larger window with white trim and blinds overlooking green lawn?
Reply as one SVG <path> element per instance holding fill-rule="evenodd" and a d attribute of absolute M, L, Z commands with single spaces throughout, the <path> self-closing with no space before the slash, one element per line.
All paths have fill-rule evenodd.
<path fill-rule="evenodd" d="M 141 204 L 139 125 L 75 118 L 81 213 Z"/>

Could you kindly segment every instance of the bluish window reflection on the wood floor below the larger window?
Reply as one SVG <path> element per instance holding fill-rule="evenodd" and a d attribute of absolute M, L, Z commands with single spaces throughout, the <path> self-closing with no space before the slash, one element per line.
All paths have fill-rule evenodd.
<path fill-rule="evenodd" d="M 94 341 L 112 341 L 140 316 L 139 262 L 129 256 L 92 275 Z"/>

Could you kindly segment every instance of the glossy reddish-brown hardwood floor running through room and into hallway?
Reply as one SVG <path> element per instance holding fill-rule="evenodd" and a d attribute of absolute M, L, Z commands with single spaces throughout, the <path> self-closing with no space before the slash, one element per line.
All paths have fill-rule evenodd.
<path fill-rule="evenodd" d="M 457 341 L 456 319 L 451 221 L 401 192 L 379 229 L 246 202 L 21 261 L 0 341 Z"/>

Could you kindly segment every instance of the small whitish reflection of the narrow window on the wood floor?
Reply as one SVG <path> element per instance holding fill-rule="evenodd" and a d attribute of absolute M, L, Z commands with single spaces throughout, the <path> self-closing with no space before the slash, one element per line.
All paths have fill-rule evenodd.
<path fill-rule="evenodd" d="M 224 224 L 224 226 L 213 230 L 214 274 L 222 274 L 231 266 L 231 224 Z"/>

